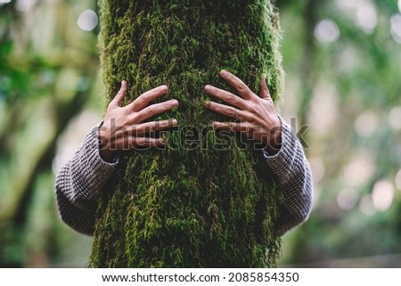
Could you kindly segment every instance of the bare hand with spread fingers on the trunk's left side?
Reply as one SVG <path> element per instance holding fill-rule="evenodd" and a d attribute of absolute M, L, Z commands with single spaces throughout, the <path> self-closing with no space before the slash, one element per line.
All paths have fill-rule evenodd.
<path fill-rule="evenodd" d="M 117 151 L 135 147 L 160 147 L 165 138 L 151 138 L 150 132 L 175 127 L 176 119 L 145 122 L 154 115 L 164 113 L 178 106 L 174 99 L 149 105 L 153 100 L 167 94 L 167 86 L 158 86 L 141 94 L 134 102 L 121 107 L 127 92 L 127 81 L 121 82 L 119 93 L 109 103 L 102 127 L 99 129 L 100 153 L 102 159 L 109 160 Z"/>

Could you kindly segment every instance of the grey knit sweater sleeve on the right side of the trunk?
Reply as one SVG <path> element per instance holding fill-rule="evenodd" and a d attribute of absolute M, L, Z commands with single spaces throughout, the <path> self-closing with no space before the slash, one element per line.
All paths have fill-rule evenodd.
<path fill-rule="evenodd" d="M 280 118 L 282 120 L 282 118 Z M 282 147 L 273 156 L 265 150 L 267 165 L 283 195 L 278 232 L 282 235 L 306 221 L 313 205 L 312 173 L 297 136 L 282 120 Z"/>

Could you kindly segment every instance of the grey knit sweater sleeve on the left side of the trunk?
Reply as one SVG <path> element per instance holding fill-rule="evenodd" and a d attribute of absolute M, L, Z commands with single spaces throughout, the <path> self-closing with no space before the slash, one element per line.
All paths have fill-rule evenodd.
<path fill-rule="evenodd" d="M 57 174 L 55 195 L 61 220 L 79 233 L 92 235 L 96 200 L 113 174 L 118 160 L 104 161 L 99 151 L 99 126 L 86 134 L 84 142 Z"/>

